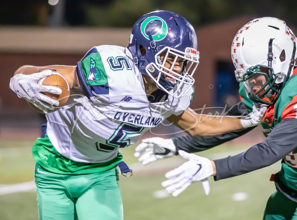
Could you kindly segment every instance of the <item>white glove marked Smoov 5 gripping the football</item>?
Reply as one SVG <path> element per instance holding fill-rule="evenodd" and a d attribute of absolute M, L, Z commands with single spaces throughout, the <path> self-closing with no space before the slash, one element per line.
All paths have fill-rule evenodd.
<path fill-rule="evenodd" d="M 14 91 L 18 97 L 26 99 L 27 102 L 31 102 L 44 113 L 48 113 L 48 110 L 54 110 L 53 105 L 59 105 L 59 101 L 51 99 L 41 92 L 61 94 L 62 90 L 55 86 L 40 85 L 38 81 L 52 74 L 54 73 L 49 69 L 30 75 L 16 74 L 10 79 L 9 88 Z"/>

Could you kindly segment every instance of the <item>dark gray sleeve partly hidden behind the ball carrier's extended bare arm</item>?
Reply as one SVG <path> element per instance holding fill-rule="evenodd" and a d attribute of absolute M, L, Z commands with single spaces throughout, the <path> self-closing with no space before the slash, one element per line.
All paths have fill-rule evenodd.
<path fill-rule="evenodd" d="M 247 115 L 248 111 L 245 105 L 243 104 L 243 102 L 238 102 L 236 105 L 231 107 L 227 113 L 229 116 L 241 116 L 241 115 Z M 184 150 L 189 153 L 200 152 L 200 151 L 212 148 L 214 146 L 217 146 L 219 144 L 225 143 L 227 141 L 233 140 L 235 138 L 238 138 L 241 135 L 244 135 L 245 133 L 254 129 L 255 127 L 256 126 L 243 128 L 243 129 L 239 129 L 236 131 L 224 133 L 221 135 L 215 135 L 215 136 L 193 137 L 191 135 L 186 135 L 182 137 L 172 138 L 172 140 L 177 150 Z"/>

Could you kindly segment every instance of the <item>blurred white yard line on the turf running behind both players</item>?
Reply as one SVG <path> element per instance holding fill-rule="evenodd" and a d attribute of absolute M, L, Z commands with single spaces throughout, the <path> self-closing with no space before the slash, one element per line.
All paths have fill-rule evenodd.
<path fill-rule="evenodd" d="M 231 152 L 223 152 L 218 154 L 208 154 L 203 155 L 203 157 L 207 157 L 211 160 L 226 157 L 229 155 L 235 155 L 240 153 L 241 151 L 231 151 Z M 129 168 L 132 169 L 134 172 L 138 171 L 154 171 L 154 170 L 160 170 L 165 168 L 175 168 L 180 166 L 182 163 L 184 163 L 185 160 L 181 157 L 175 157 L 170 158 L 168 160 L 157 160 L 153 163 L 149 164 L 148 166 L 143 166 L 141 163 L 132 163 L 129 164 Z M 120 175 L 121 176 L 121 175 Z M 28 191 L 35 191 L 36 185 L 34 181 L 30 182 L 23 182 L 13 185 L 0 185 L 0 195 L 7 195 L 12 193 L 18 193 L 18 192 L 28 192 Z"/>

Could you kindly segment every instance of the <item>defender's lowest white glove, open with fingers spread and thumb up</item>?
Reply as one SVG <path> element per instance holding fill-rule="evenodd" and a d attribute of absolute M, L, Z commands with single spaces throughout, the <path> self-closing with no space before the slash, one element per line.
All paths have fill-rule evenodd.
<path fill-rule="evenodd" d="M 169 171 L 165 177 L 169 180 L 162 182 L 168 193 L 177 196 L 184 191 L 194 181 L 202 181 L 205 194 L 210 191 L 207 177 L 214 173 L 214 168 L 210 160 L 195 154 L 189 154 L 183 150 L 178 150 L 178 154 L 188 161 L 178 168 Z"/>

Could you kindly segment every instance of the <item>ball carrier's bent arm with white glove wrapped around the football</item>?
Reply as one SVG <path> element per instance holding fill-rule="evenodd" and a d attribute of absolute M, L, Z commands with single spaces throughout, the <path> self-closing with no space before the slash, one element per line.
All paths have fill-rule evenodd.
<path fill-rule="evenodd" d="M 49 110 L 54 110 L 54 106 L 59 105 L 59 101 L 46 96 L 43 92 L 59 95 L 62 90 L 54 86 L 41 85 L 38 82 L 40 79 L 52 75 L 53 69 L 66 79 L 67 83 L 71 85 L 69 88 L 76 85 L 73 83 L 75 82 L 75 66 L 51 65 L 41 67 L 25 65 L 15 71 L 14 76 L 10 79 L 10 89 L 18 97 L 26 99 L 31 106 L 36 107 L 40 112 L 48 113 Z"/>

